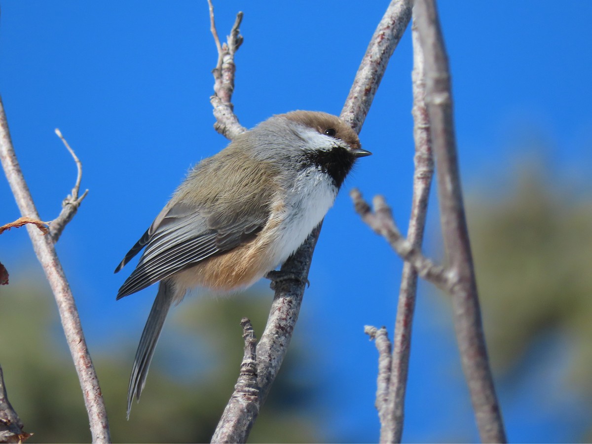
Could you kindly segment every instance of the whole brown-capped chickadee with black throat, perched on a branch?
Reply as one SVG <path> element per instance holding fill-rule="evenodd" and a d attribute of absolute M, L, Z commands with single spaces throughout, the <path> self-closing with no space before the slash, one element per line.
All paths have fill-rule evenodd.
<path fill-rule="evenodd" d="M 117 299 L 160 281 L 131 372 L 140 399 L 171 304 L 190 288 L 246 288 L 300 247 L 333 205 L 358 157 L 371 153 L 325 112 L 274 115 L 202 160 L 117 266 L 146 247 Z"/>

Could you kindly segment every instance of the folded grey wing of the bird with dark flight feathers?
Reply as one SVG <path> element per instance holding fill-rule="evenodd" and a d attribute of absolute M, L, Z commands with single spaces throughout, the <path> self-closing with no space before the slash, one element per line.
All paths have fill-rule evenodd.
<path fill-rule="evenodd" d="M 215 213 L 184 203 L 165 207 L 115 269 L 120 271 L 146 246 L 136 269 L 119 289 L 117 299 L 253 239 L 268 217 L 269 205 L 249 207 L 243 203 L 240 208 Z"/>

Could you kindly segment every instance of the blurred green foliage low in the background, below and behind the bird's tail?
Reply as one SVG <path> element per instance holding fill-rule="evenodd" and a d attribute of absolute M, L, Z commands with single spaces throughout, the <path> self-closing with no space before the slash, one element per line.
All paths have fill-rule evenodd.
<path fill-rule="evenodd" d="M 9 399 L 25 430 L 34 433 L 28 442 L 89 442 L 82 392 L 52 295 L 17 279 L 1 291 L 0 364 Z M 127 384 L 140 332 L 121 337 L 117 345 L 91 350 L 114 442 L 210 442 L 239 374 L 240 318 L 251 316 L 260 335 L 271 301 L 253 294 L 232 300 L 187 299 L 182 310 L 173 310 L 176 319 L 166 325 L 146 390 L 139 404 L 134 401 L 129 421 Z M 195 356 L 203 342 L 207 354 Z M 295 339 L 250 442 L 326 440 L 315 420 L 318 412 L 307 411 L 300 402 L 311 395 L 317 382 L 306 371 L 299 349 Z M 292 378 L 298 374 L 305 378 Z"/>

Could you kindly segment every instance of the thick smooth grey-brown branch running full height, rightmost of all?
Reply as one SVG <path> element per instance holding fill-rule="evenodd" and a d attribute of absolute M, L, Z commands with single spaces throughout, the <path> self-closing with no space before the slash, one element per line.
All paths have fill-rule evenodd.
<path fill-rule="evenodd" d="M 417 31 L 425 57 L 426 102 L 431 124 L 440 220 L 452 279 L 456 339 L 483 442 L 506 442 L 489 368 L 471 246 L 462 200 L 452 113 L 448 56 L 433 0 L 415 0 Z"/>

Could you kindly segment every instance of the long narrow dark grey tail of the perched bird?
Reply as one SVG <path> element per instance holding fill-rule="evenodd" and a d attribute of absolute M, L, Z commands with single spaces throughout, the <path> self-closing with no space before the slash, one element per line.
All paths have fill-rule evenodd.
<path fill-rule="evenodd" d="M 156 299 L 138 345 L 134 366 L 131 369 L 130 387 L 127 391 L 127 419 L 130 419 L 131 401 L 134 396 L 138 401 L 140 400 L 140 394 L 144 389 L 144 384 L 146 384 L 148 368 L 154 355 L 156 343 L 162 331 L 162 326 L 165 324 L 166 314 L 169 313 L 170 305 L 174 300 L 175 288 L 172 282 L 160 281 Z"/>

